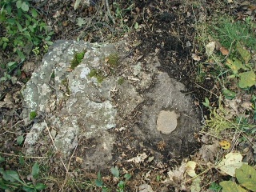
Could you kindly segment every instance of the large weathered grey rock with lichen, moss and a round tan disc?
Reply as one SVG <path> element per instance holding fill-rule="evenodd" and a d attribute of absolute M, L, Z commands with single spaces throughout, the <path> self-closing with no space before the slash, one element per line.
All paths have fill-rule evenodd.
<path fill-rule="evenodd" d="M 26 154 L 37 154 L 52 137 L 64 158 L 78 146 L 84 168 L 106 168 L 116 138 L 108 130 L 139 109 L 142 115 L 133 127 L 138 140 L 154 145 L 164 140 L 170 151 L 193 142 L 199 122 L 190 96 L 181 92 L 185 87 L 158 71 L 153 54 L 144 63 L 133 62 L 124 46 L 58 41 L 50 47 L 22 90 L 24 118 L 31 111 L 46 116 L 27 134 Z M 70 61 L 82 51 L 82 62 L 71 70 Z M 118 55 L 118 63 L 110 63 L 111 55 Z"/>

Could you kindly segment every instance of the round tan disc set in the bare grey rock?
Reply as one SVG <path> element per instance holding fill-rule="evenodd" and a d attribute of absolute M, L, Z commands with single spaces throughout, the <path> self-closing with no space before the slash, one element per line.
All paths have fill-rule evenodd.
<path fill-rule="evenodd" d="M 158 114 L 157 129 L 162 134 L 170 134 L 177 127 L 178 115 L 175 111 L 161 110 Z"/>

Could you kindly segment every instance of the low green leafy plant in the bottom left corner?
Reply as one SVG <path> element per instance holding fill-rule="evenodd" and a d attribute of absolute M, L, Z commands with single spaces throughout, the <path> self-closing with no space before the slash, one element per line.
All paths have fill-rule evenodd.
<path fill-rule="evenodd" d="M 0 168 L 0 189 L 2 190 L 24 190 L 26 192 L 38 191 L 46 189 L 46 185 L 41 182 L 36 182 L 39 175 L 39 165 L 38 162 L 34 163 L 31 170 L 31 182 L 25 182 L 21 179 L 18 172 L 15 170 L 4 170 Z"/>

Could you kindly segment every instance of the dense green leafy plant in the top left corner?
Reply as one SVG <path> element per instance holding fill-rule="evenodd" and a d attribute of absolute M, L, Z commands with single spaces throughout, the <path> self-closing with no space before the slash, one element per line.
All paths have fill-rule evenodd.
<path fill-rule="evenodd" d="M 53 31 L 39 18 L 38 10 L 30 5 L 30 0 L 10 0 L 0 2 L 0 46 L 13 51 L 24 61 L 33 46 L 51 45 Z"/>

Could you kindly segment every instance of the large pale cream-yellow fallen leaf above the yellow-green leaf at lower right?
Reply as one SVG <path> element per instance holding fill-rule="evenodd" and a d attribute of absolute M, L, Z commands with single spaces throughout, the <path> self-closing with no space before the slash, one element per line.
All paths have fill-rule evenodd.
<path fill-rule="evenodd" d="M 221 170 L 221 174 L 229 174 L 230 176 L 235 176 L 235 170 L 240 168 L 244 162 L 242 162 L 242 154 L 239 153 L 229 153 L 226 154 L 225 158 L 216 166 L 217 169 Z"/>

